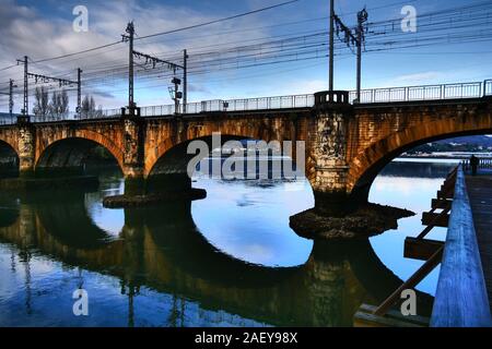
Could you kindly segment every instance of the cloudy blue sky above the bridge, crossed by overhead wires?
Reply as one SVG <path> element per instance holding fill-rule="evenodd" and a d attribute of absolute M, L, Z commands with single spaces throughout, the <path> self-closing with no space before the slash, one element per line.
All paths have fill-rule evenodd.
<path fill-rule="evenodd" d="M 28 55 L 32 60 L 69 53 L 119 39 L 126 23 L 134 20 L 140 36 L 167 31 L 200 22 L 207 22 L 241 12 L 277 4 L 282 0 L 238 1 L 34 1 L 0 0 L 0 20 L 7 25 L 0 28 L 0 69 L 15 63 L 15 59 Z M 467 1 L 478 3 L 480 0 Z M 72 9 L 83 4 L 89 10 L 89 33 L 74 33 Z M 355 12 L 364 5 L 368 9 L 370 22 L 402 17 L 401 8 L 413 5 L 418 14 L 441 11 L 464 5 L 458 0 L 336 0 L 336 12 L 352 26 Z M 268 40 L 272 37 L 294 36 L 302 33 L 327 31 L 328 0 L 301 0 L 272 11 L 242 17 L 235 21 L 162 36 L 153 40 L 141 40 L 136 49 L 149 53 L 164 52 L 179 55 L 187 48 L 192 56 L 195 48 L 224 43 Z M 5 12 L 7 11 L 7 12 Z M 309 21 L 306 21 L 309 20 Z M 280 25 L 300 22 L 291 25 Z M 247 29 L 239 32 L 241 29 Z M 224 34 L 225 32 L 225 34 Z M 235 32 L 235 33 L 234 33 Z M 216 35 L 222 33 L 221 35 Z M 227 34 L 230 33 L 230 34 Z M 408 34 L 411 36 L 412 34 Z M 168 52 L 168 53 L 167 53 Z M 479 53 L 473 53 L 479 52 Z M 355 88 L 355 57 L 347 48 L 336 59 L 336 88 Z M 78 67 L 90 70 L 93 67 L 112 65 L 113 60 L 124 61 L 127 49 L 120 45 L 117 50 L 104 55 L 91 55 L 79 60 L 61 60 L 32 65 L 39 73 L 67 77 Z M 241 97 L 307 94 L 328 87 L 328 59 L 294 61 L 283 64 L 254 67 L 241 70 L 215 70 L 204 75 L 190 75 L 189 100 L 226 99 Z M 363 88 L 382 86 L 405 86 L 447 83 L 459 81 L 482 81 L 492 77 L 490 60 L 492 50 L 488 43 L 440 45 L 400 49 L 391 52 L 371 52 L 363 58 Z M 22 84 L 21 69 L 0 72 L 0 89 L 9 79 Z M 152 84 L 137 80 L 136 98 L 140 106 L 171 104 L 168 79 Z M 126 103 L 126 82 L 112 80 L 98 85 L 92 93 L 104 108 L 116 108 Z M 74 97 L 72 97 L 73 100 Z M 4 110 L 5 98 L 0 97 Z M 17 104 L 19 105 L 19 104 Z"/>

